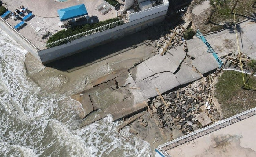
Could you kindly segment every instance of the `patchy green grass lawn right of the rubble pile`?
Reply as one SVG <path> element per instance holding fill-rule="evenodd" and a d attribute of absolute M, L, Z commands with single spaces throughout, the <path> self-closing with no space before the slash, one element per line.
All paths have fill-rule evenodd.
<path fill-rule="evenodd" d="M 242 85 L 243 77 L 240 72 L 225 70 L 218 78 L 214 93 L 221 104 L 224 118 L 256 107 L 256 90 L 247 86 L 241 89 Z M 256 88 L 256 77 L 251 77 L 249 85 Z"/>

